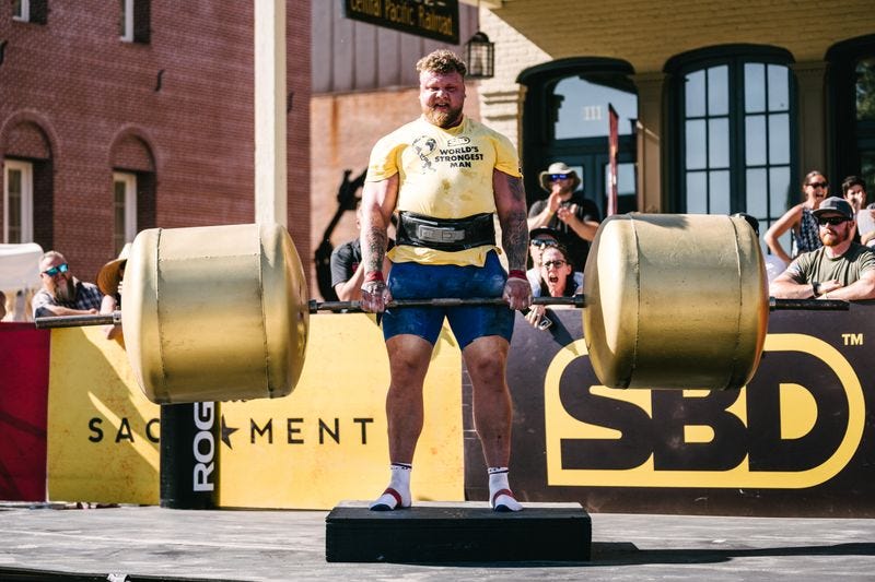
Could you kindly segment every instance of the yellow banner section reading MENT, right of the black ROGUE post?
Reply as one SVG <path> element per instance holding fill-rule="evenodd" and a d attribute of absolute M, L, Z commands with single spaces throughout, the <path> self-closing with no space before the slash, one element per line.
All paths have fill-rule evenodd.
<path fill-rule="evenodd" d="M 222 403 L 222 507 L 330 509 L 388 484 L 388 359 L 373 316 L 310 319 L 306 361 L 283 399 Z M 415 500 L 463 500 L 462 359 L 445 328 L 425 378 Z"/>

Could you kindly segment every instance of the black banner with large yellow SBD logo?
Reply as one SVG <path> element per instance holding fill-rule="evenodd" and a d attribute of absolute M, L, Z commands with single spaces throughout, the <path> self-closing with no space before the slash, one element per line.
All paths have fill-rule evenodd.
<path fill-rule="evenodd" d="M 511 487 L 594 512 L 875 516 L 874 309 L 772 312 L 760 367 L 735 391 L 609 390 L 581 311 L 553 311 L 548 331 L 517 316 Z M 467 377 L 464 391 L 469 404 Z M 486 499 L 472 431 L 465 465 L 466 496 Z"/>

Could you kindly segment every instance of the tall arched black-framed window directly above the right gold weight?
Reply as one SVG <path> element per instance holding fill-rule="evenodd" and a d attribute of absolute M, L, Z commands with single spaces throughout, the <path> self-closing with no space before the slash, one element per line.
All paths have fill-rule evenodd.
<path fill-rule="evenodd" d="M 678 128 L 673 209 L 746 212 L 765 233 L 795 203 L 795 88 L 789 62 L 783 51 L 757 47 L 705 49 L 693 59 L 669 61 L 672 126 Z"/>

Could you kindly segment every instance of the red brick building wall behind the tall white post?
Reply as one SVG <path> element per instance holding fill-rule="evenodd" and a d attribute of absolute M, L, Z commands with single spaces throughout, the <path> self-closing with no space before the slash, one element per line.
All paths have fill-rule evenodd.
<path fill-rule="evenodd" d="M 130 159 L 131 139 L 152 157 L 154 226 L 253 222 L 252 3 L 151 2 L 148 45 L 118 39 L 117 3 L 48 8 L 45 25 L 13 22 L 8 3 L 0 10 L 0 158 L 30 155 L 10 140 L 21 122 L 38 127 L 50 149 L 51 212 L 35 223 L 51 221 L 52 237 L 39 242 L 85 280 L 114 258 L 112 173 L 124 168 L 113 165 Z M 289 228 L 305 254 L 310 1 L 289 0 L 287 12 Z"/>

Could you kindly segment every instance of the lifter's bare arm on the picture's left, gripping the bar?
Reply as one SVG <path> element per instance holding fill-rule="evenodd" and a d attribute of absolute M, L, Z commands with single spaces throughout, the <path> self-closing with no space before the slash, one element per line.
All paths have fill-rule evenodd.
<path fill-rule="evenodd" d="M 364 182 L 362 188 L 362 284 L 361 306 L 380 312 L 392 300 L 384 282 L 383 263 L 388 246 L 388 225 L 398 198 L 398 175 L 380 182 Z"/>

